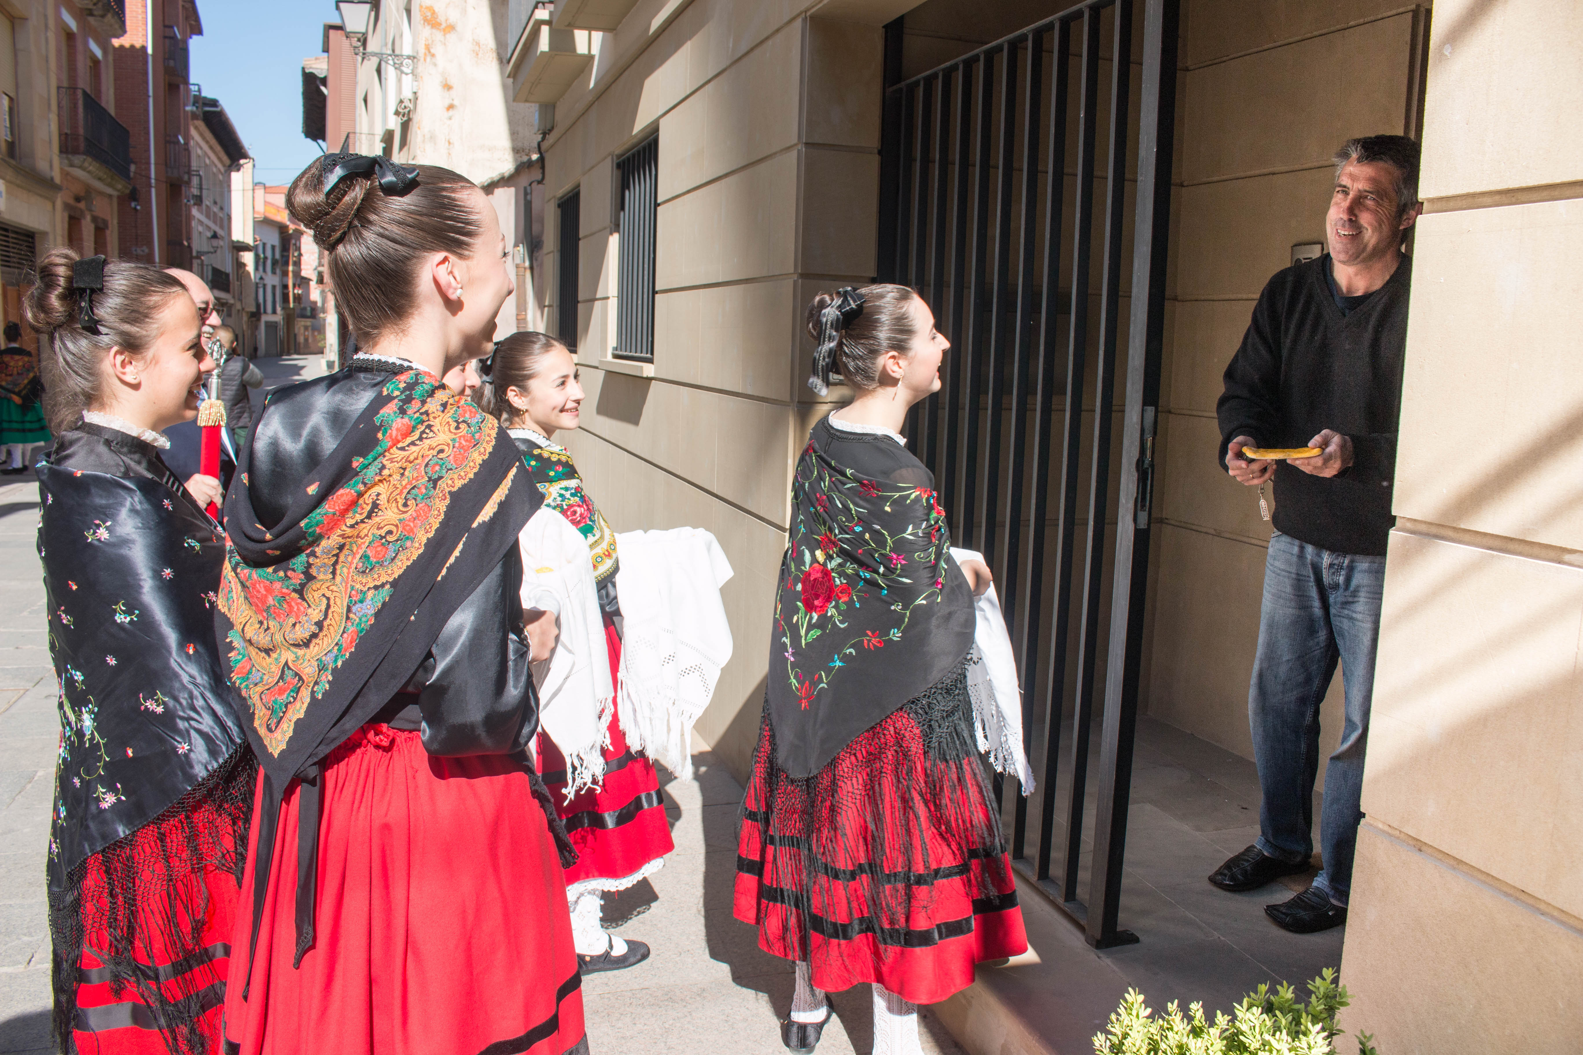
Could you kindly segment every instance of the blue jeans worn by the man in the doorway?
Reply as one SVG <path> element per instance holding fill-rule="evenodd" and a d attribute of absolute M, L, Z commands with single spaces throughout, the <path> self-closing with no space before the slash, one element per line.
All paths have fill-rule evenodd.
<path fill-rule="evenodd" d="M 1276 531 L 1265 560 L 1258 655 L 1247 691 L 1263 805 L 1258 849 L 1289 862 L 1314 853 L 1319 704 L 1341 661 L 1346 721 L 1325 770 L 1319 818 L 1323 870 L 1314 886 L 1338 905 L 1352 889 L 1352 856 L 1363 811 L 1363 753 L 1374 694 L 1385 558 L 1338 554 Z"/>

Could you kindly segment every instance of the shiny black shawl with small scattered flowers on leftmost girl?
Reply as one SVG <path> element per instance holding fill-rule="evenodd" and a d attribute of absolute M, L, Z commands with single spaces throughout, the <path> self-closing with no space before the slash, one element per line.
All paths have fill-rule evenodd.
<path fill-rule="evenodd" d="M 155 819 L 244 740 L 214 650 L 225 546 L 157 449 L 82 424 L 36 468 L 60 680 L 49 886 Z"/>

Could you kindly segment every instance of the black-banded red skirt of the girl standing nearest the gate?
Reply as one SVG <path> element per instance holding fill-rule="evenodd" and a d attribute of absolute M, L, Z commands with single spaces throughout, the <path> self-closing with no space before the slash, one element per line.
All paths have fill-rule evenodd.
<path fill-rule="evenodd" d="M 825 992 L 879 982 L 932 1004 L 1027 949 L 977 753 L 931 754 L 905 709 L 807 780 L 776 767 L 766 715 L 736 853 L 736 917 Z"/>

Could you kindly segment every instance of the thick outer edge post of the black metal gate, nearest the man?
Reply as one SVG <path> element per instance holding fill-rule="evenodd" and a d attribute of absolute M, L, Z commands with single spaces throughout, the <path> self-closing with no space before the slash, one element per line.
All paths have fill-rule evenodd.
<path fill-rule="evenodd" d="M 1124 0 L 1126 2 L 1126 0 Z M 1099 813 L 1089 881 L 1089 944 L 1105 949 L 1137 935 L 1118 930 L 1132 743 L 1138 724 L 1154 433 L 1165 342 L 1165 264 L 1171 214 L 1179 0 L 1145 0 L 1143 93 L 1138 100 L 1138 204 L 1132 236 L 1132 305 L 1127 327 L 1127 414 L 1122 424 L 1116 573 L 1111 588 L 1105 728 L 1100 732 Z M 1127 473 L 1132 465 L 1133 471 Z"/>

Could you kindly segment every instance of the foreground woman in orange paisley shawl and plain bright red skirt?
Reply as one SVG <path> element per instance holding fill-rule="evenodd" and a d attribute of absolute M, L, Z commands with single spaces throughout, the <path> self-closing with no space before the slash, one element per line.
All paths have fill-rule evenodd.
<path fill-rule="evenodd" d="M 499 220 L 456 172 L 350 153 L 287 206 L 358 354 L 271 394 L 226 498 L 217 634 L 263 769 L 226 1052 L 587 1052 L 570 846 L 526 753 L 540 495 L 442 383 L 513 291 Z"/>

